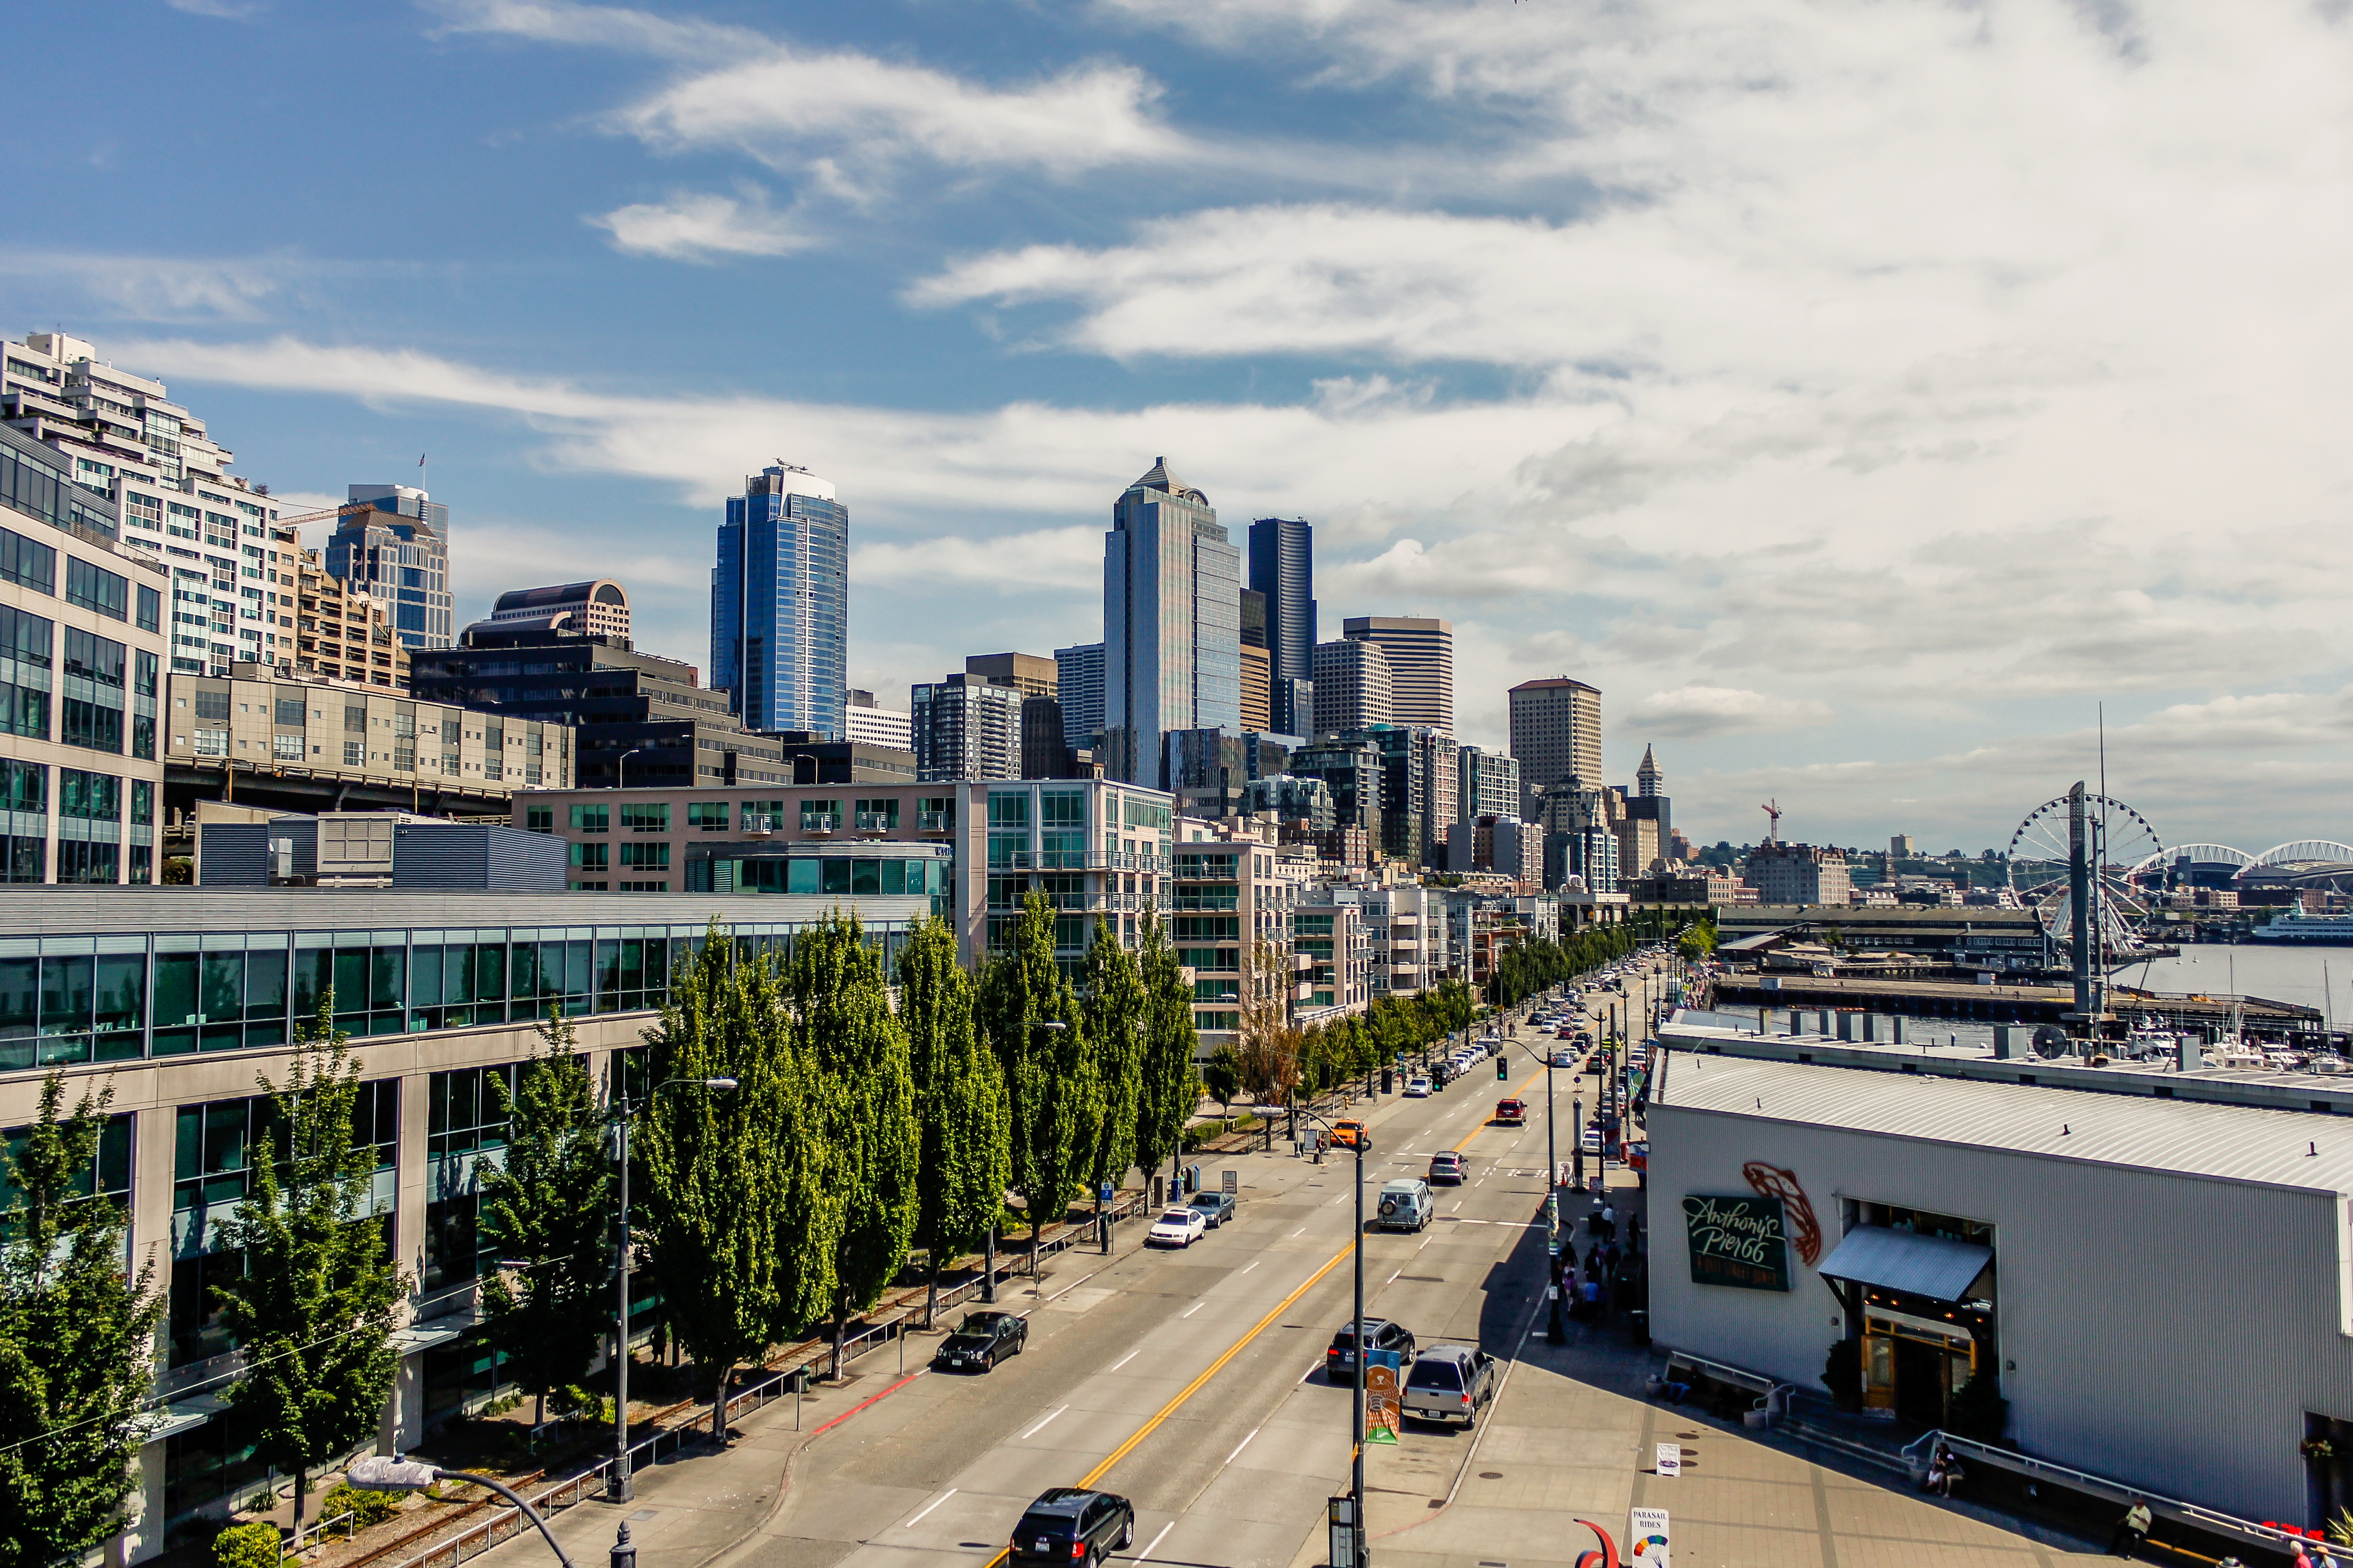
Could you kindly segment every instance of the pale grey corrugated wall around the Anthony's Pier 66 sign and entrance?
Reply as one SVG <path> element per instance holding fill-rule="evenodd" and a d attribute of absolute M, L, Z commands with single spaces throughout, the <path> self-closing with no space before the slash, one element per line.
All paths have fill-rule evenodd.
<path fill-rule="evenodd" d="M 1948 1128 L 1944 1138 L 1965 1138 Z M 2061 1465 L 2301 1521 L 2304 1413 L 2353 1418 L 2344 1201 L 2329 1192 L 1972 1150 L 1654 1105 L 1659 1342 L 1819 1385 L 1835 1298 L 1793 1260 L 1788 1295 L 1694 1286 L 1680 1199 L 1795 1173 L 1824 1232 L 1840 1199 L 1995 1225 L 2009 1436 Z"/>

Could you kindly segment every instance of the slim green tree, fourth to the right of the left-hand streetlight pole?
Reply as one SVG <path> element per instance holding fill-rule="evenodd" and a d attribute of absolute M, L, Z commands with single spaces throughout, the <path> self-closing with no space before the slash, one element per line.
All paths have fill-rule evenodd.
<path fill-rule="evenodd" d="M 1061 1218 L 1101 1117 L 1101 1088 L 1078 997 L 1054 961 L 1054 905 L 1031 893 L 1005 952 L 981 978 L 988 1044 L 1005 1067 L 1014 1187 L 1028 1204 L 1031 1241 Z M 1059 1025 L 1059 1027 L 1049 1027 Z"/>

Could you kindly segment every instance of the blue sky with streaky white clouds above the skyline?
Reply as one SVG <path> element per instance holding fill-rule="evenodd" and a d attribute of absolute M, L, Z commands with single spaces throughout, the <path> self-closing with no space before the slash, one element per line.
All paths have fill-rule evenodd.
<path fill-rule="evenodd" d="M 720 498 L 852 508 L 852 670 L 1099 635 L 1160 454 L 1605 689 L 1678 820 L 1981 849 L 2097 771 L 2348 837 L 2353 47 L 2129 0 L 134 0 L 12 19 L 0 313 L 461 618 L 605 571 L 706 663 Z M 49 61 L 40 66 L 38 61 Z"/>

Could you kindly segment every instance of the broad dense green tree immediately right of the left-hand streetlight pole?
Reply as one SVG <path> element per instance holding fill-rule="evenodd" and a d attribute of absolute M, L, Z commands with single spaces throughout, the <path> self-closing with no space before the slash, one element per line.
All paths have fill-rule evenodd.
<path fill-rule="evenodd" d="M 640 1112 L 645 1234 L 671 1331 L 711 1389 L 727 1443 L 727 1382 L 833 1305 L 840 1206 L 826 1187 L 824 1103 L 795 1048 L 772 954 L 736 957 L 718 929 L 645 1032 L 647 1081 L 687 1079 Z M 701 1079 L 734 1079 L 706 1091 Z"/>

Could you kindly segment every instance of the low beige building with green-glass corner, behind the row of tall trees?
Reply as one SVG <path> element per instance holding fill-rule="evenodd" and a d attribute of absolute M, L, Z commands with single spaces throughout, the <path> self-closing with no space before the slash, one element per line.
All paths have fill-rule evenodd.
<path fill-rule="evenodd" d="M 541 790 L 513 823 L 565 839 L 581 893 L 875 893 L 927 898 L 965 961 L 1002 940 L 1035 889 L 1078 964 L 1094 917 L 1136 940 L 1169 910 L 1169 797 L 1106 780 Z"/>

